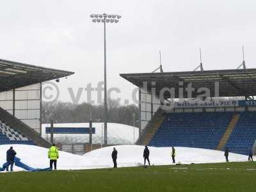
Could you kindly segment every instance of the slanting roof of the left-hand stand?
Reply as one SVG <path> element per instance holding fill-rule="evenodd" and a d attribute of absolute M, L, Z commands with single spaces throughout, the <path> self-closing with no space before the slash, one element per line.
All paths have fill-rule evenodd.
<path fill-rule="evenodd" d="M 74 72 L 37 67 L 35 65 L 0 59 L 0 92 L 67 77 L 72 74 Z"/>

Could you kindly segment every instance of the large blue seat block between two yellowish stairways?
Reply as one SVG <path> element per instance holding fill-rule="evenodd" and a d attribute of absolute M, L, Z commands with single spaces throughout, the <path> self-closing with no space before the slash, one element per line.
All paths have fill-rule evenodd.
<path fill-rule="evenodd" d="M 170 113 L 148 145 L 215 149 L 232 113 Z"/>

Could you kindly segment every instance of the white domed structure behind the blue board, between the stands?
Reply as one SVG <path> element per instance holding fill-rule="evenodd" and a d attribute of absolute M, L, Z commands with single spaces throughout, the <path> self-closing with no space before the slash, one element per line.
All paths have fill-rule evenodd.
<path fill-rule="evenodd" d="M 50 124 L 42 124 L 42 137 L 50 140 L 50 134 L 45 134 L 45 127 L 51 127 Z M 84 124 L 54 124 L 54 127 L 89 127 L 89 123 Z M 104 142 L 104 123 L 94 123 L 95 134 L 92 134 L 93 144 Z M 108 123 L 108 144 L 124 145 L 133 144 L 138 139 L 139 128 L 124 124 Z M 55 143 L 88 143 L 89 134 L 54 134 Z"/>

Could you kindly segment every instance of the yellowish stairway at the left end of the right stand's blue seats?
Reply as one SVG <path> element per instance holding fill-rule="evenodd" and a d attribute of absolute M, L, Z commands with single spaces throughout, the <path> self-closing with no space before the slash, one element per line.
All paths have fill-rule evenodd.
<path fill-rule="evenodd" d="M 164 116 L 161 108 L 157 109 L 156 113 L 152 118 L 152 122 L 148 122 L 147 126 L 143 130 L 141 137 L 136 142 L 137 145 L 148 145 L 150 140 L 153 138 L 157 129 L 163 124 Z"/>

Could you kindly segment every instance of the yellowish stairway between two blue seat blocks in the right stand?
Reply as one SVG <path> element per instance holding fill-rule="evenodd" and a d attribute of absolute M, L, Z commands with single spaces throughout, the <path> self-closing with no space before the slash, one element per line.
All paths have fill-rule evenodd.
<path fill-rule="evenodd" d="M 224 132 L 224 134 L 220 140 L 220 143 L 216 147 L 216 150 L 222 150 L 223 147 L 226 145 L 228 138 L 229 138 L 230 134 L 232 133 L 233 129 L 236 127 L 236 123 L 238 122 L 239 118 L 240 118 L 240 114 L 235 114 L 232 117 L 232 119 L 230 120 L 230 123 L 228 124 L 226 131 Z"/>

